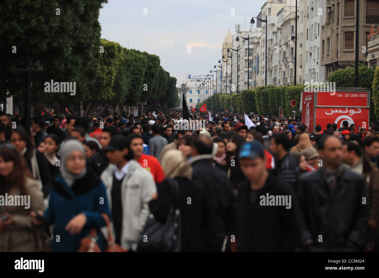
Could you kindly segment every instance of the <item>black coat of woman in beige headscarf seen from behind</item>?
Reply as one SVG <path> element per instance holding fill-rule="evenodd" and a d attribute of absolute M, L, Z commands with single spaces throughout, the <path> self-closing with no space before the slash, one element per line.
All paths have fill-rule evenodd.
<path fill-rule="evenodd" d="M 182 252 L 202 252 L 206 244 L 206 230 L 210 224 L 207 193 L 196 181 L 177 178 L 179 183 L 179 210 L 182 215 Z M 158 199 L 149 203 L 151 213 L 161 223 L 166 222 L 171 204 L 174 203 L 171 186 L 163 180 L 158 186 Z M 189 204 L 190 197 L 191 203 Z"/>

